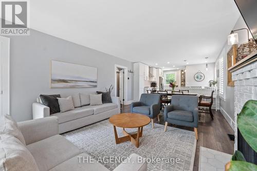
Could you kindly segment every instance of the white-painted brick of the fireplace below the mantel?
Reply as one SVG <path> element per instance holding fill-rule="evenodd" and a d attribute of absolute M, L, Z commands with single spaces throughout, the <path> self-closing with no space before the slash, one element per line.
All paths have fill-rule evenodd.
<path fill-rule="evenodd" d="M 235 96 L 235 121 L 237 114 L 242 110 L 245 102 L 248 100 L 257 100 L 257 62 L 247 65 L 244 68 L 232 72 L 232 80 L 234 81 Z M 235 122 L 235 145 L 237 149 L 237 124 Z"/>

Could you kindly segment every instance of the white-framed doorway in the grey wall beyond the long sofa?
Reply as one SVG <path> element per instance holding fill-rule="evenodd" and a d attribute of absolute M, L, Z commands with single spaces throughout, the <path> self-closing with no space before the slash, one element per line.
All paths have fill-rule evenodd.
<path fill-rule="evenodd" d="M 127 102 L 127 67 L 115 65 L 115 96 L 120 98 L 121 105 Z"/>

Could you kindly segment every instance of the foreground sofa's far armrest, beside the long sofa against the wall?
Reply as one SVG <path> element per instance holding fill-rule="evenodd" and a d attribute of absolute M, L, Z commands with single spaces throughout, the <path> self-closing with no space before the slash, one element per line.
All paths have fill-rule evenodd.
<path fill-rule="evenodd" d="M 28 120 L 17 124 L 27 145 L 59 134 L 57 117 Z"/>

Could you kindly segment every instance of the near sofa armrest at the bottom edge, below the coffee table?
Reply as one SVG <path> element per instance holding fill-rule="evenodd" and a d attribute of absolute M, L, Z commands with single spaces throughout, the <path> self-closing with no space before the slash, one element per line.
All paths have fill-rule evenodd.
<path fill-rule="evenodd" d="M 118 165 L 114 171 L 146 171 L 147 164 L 143 161 L 141 156 L 136 154 L 130 155 L 123 163 Z"/>

